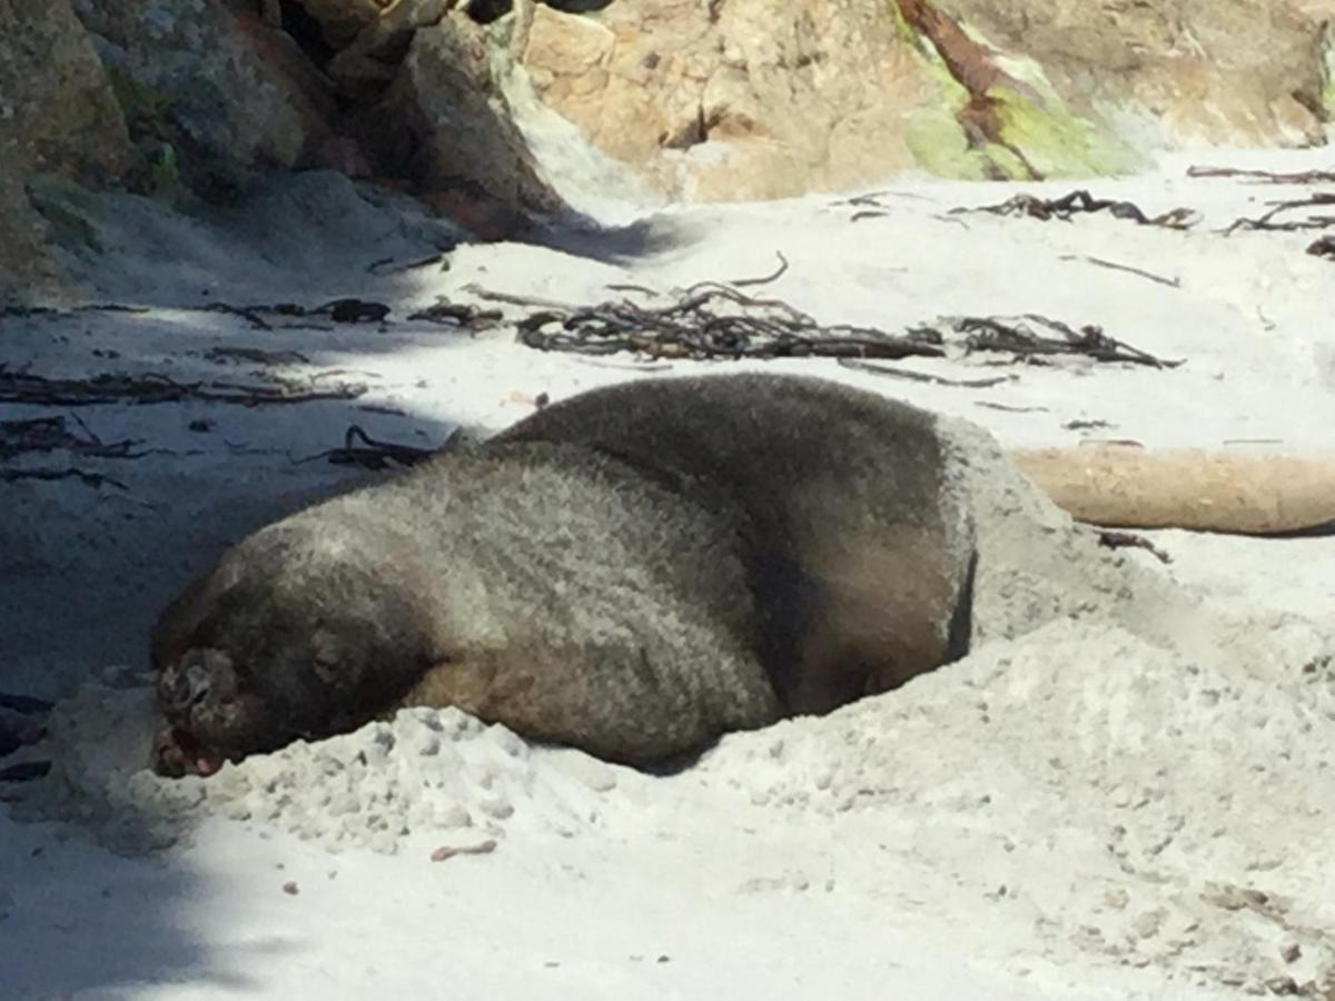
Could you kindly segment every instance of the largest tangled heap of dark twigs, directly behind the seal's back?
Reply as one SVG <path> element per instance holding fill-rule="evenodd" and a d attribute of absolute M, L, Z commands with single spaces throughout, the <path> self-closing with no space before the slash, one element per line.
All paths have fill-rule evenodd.
<path fill-rule="evenodd" d="M 634 351 L 655 359 L 894 359 L 944 354 L 934 331 L 896 336 L 874 327 L 822 326 L 785 302 L 754 298 L 720 282 L 694 284 L 668 306 L 641 306 L 625 299 L 594 306 L 519 296 L 505 300 L 538 307 L 517 326 L 519 342 L 542 351 L 585 355 Z"/>

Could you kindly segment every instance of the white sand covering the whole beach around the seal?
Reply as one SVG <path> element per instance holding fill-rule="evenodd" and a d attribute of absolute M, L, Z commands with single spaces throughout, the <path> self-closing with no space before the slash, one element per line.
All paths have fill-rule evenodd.
<path fill-rule="evenodd" d="M 1227 159 L 1330 165 L 1315 153 Z M 872 387 L 983 423 L 1005 446 L 1089 435 L 1330 450 L 1335 266 L 1302 252 L 1310 234 L 1208 231 L 1286 190 L 1185 180 L 1181 163 L 1089 186 L 1148 212 L 1203 211 L 1203 228 L 1177 234 L 1105 218 L 961 224 L 941 214 L 1020 188 L 901 182 L 884 199 L 892 215 L 857 223 L 829 198 L 680 210 L 647 227 L 649 247 L 627 239 L 601 262 L 474 246 L 446 272 L 375 279 L 371 260 L 421 256 L 439 234 L 358 207 L 336 182 L 303 186 L 227 235 L 121 204 L 119 238 L 104 240 L 121 247 L 115 268 L 89 262 L 105 283 L 97 298 L 180 306 L 204 282 L 232 303 L 363 294 L 395 307 L 384 332 L 251 331 L 168 308 L 4 320 L 0 362 L 44 375 L 246 378 L 252 366 L 202 356 L 226 344 L 299 351 L 311 364 L 294 371 L 355 370 L 339 378 L 370 388 L 356 403 L 287 408 L 81 408 L 104 440 L 168 451 L 68 456 L 125 491 L 0 486 L 12 511 L 0 523 L 0 687 L 71 695 L 101 679 L 61 707 L 57 781 L 0 814 L 0 970 L 20 996 L 1219 997 L 1335 977 L 1335 539 L 1157 533 L 1176 557 L 1163 571 L 1143 553 L 1097 550 L 977 443 L 984 642 L 902 691 L 732 735 L 672 777 L 529 747 L 453 711 L 403 714 L 203 783 L 135 774 L 152 615 L 228 541 L 350 475 L 290 456 L 339 444 L 348 423 L 439 443 L 461 424 L 505 426 L 539 392 L 634 375 L 530 351 L 509 332 L 405 323 L 407 304 L 470 283 L 566 302 L 601 299 L 614 282 L 666 291 L 765 274 L 781 251 L 792 267 L 764 294 L 825 322 L 898 330 L 1040 312 L 1188 360 L 905 363 L 1020 376 L 987 390 L 832 362 L 757 367 Z M 326 215 L 356 212 L 300 239 L 312 199 Z M 260 218 L 283 239 L 258 232 Z M 150 231 L 158 244 L 146 248 Z M 403 415 L 356 408 L 366 403 Z M 43 412 L 71 411 L 0 416 Z M 196 418 L 216 427 L 188 431 Z M 1077 419 L 1112 427 L 1063 427 Z M 129 667 L 105 669 L 117 663 Z M 35 811 L 87 815 L 23 819 Z M 430 861 L 486 841 L 486 854 Z"/>

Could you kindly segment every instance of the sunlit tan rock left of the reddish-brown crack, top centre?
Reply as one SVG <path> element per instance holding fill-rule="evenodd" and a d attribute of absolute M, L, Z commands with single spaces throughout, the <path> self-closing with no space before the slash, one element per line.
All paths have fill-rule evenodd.
<path fill-rule="evenodd" d="M 914 165 L 904 109 L 929 91 L 885 3 L 643 0 L 530 17 L 519 60 L 543 103 L 672 196 L 778 198 Z"/>

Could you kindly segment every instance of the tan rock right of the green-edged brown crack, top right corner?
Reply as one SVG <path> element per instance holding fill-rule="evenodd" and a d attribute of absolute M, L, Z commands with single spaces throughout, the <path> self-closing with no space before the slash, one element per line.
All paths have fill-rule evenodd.
<path fill-rule="evenodd" d="M 1332 0 L 937 0 L 1027 56 L 1073 107 L 1139 119 L 1163 145 L 1324 136 L 1319 40 Z"/>

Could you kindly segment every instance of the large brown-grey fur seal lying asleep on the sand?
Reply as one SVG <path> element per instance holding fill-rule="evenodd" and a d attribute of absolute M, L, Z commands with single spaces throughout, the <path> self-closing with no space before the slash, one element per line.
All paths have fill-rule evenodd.
<path fill-rule="evenodd" d="M 784 375 L 579 394 L 244 539 L 163 613 L 162 774 L 455 705 L 631 765 L 964 653 L 933 415 Z"/>

